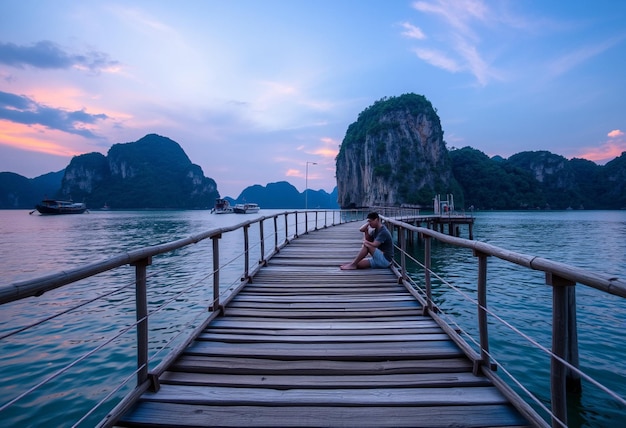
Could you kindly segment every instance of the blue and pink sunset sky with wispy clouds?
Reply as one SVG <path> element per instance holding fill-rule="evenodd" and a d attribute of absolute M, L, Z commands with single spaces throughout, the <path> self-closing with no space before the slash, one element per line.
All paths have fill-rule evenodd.
<path fill-rule="evenodd" d="M 159 134 L 222 196 L 331 192 L 348 126 L 424 95 L 448 149 L 626 151 L 626 2 L 2 0 L 0 171 Z"/>

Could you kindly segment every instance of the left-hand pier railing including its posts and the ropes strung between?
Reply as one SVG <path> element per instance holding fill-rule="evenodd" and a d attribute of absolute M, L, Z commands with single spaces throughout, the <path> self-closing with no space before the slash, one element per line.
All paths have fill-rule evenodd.
<path fill-rule="evenodd" d="M 4 403 L 0 403 L 0 412 L 12 406 L 14 403 L 22 400 L 25 396 L 31 394 L 37 389 L 41 388 L 46 383 L 50 382 L 53 379 L 56 379 L 60 375 L 64 374 L 72 367 L 76 366 L 79 362 L 84 361 L 89 356 L 95 354 L 98 351 L 101 351 L 106 345 L 111 344 L 116 339 L 118 339 L 123 334 L 128 334 L 132 329 L 137 330 L 137 339 L 136 339 L 136 348 L 137 348 L 137 365 L 136 369 L 131 373 L 130 376 L 126 378 L 122 384 L 113 388 L 112 391 L 107 394 L 107 396 L 100 400 L 94 407 L 100 407 L 108 403 L 107 397 L 111 397 L 117 391 L 124 388 L 124 386 L 129 382 L 130 379 L 136 378 L 136 386 L 131 394 L 127 395 L 125 399 L 123 399 L 120 403 L 116 405 L 116 407 L 108 414 L 108 416 L 101 421 L 101 425 L 108 426 L 116 420 L 119 416 L 122 409 L 126 408 L 129 403 L 132 402 L 133 397 L 137 396 L 141 392 L 147 390 L 148 388 L 158 389 L 158 376 L 165 370 L 165 367 L 177 357 L 177 355 L 182 352 L 182 350 L 190 343 L 193 337 L 197 334 L 198 331 L 204 329 L 208 323 L 215 318 L 217 315 L 221 313 L 221 309 L 228 302 L 236 292 L 243 287 L 254 275 L 256 270 L 260 269 L 260 267 L 265 263 L 268 258 L 271 258 L 273 254 L 280 251 L 280 249 L 287 245 L 292 239 L 298 237 L 301 233 L 308 233 L 310 230 L 315 230 L 320 227 L 329 227 L 336 224 L 346 223 L 350 221 L 362 220 L 365 218 L 366 212 L 362 210 L 351 210 L 351 211 L 336 211 L 336 210 L 308 210 L 305 212 L 298 211 L 284 211 L 281 213 L 257 217 L 252 220 L 244 221 L 229 227 L 222 227 L 211 229 L 202 233 L 198 233 L 187 238 L 166 242 L 164 244 L 159 244 L 150 247 L 143 247 L 137 250 L 129 251 L 123 254 L 119 254 L 112 258 L 106 259 L 104 261 L 95 262 L 87 265 L 83 265 L 74 269 L 66 269 L 61 272 L 55 272 L 52 274 L 48 274 L 39 278 L 34 278 L 31 280 L 20 281 L 8 285 L 0 286 L 0 305 L 8 304 L 10 302 L 15 302 L 21 299 L 25 299 L 27 297 L 32 296 L 41 296 L 47 292 L 55 290 L 57 288 L 61 288 L 78 281 L 94 278 L 96 275 L 104 273 L 104 272 L 112 272 L 118 268 L 123 266 L 134 266 L 135 268 L 135 278 L 134 282 L 131 282 L 130 287 L 135 286 L 135 301 L 136 301 L 136 319 L 134 322 L 126 325 L 124 328 L 121 328 L 116 334 L 111 335 L 111 337 L 105 338 L 98 346 L 89 350 L 88 352 L 82 354 L 78 358 L 66 364 L 64 367 L 56 370 L 53 374 L 47 376 L 41 382 L 36 383 L 34 386 L 27 388 L 27 391 L 23 393 L 17 394 L 17 396 L 13 398 L 7 398 L 8 401 Z M 282 225 L 281 225 L 282 224 Z M 266 232 L 266 227 L 268 227 L 268 231 Z M 258 234 L 258 237 L 255 238 L 254 242 L 250 242 L 250 229 L 254 228 L 254 231 Z M 238 233 L 239 231 L 243 231 L 244 233 L 244 243 L 243 248 L 238 256 L 229 258 L 228 260 L 222 260 L 220 256 L 220 240 L 222 236 L 229 233 Z M 239 232 L 240 233 L 240 232 Z M 273 239 L 273 245 L 269 246 L 266 249 L 266 244 L 269 244 Z M 209 260 L 207 263 L 211 266 L 208 274 L 203 275 L 200 279 L 194 281 L 191 285 L 185 287 L 183 290 L 174 293 L 172 296 L 167 298 L 161 305 L 159 305 L 155 310 L 148 310 L 148 289 L 149 284 L 153 280 L 152 275 L 149 273 L 153 270 L 152 265 L 159 265 L 160 259 L 157 257 L 162 254 L 171 253 L 182 248 L 190 247 L 192 244 L 197 244 L 200 242 L 211 242 L 211 249 L 204 250 L 212 253 L 212 261 Z M 258 256 L 258 263 L 253 265 L 250 262 L 250 258 Z M 211 257 L 210 257 L 211 258 Z M 238 276 L 237 280 L 239 284 L 235 283 L 235 281 L 230 281 L 225 284 L 220 280 L 220 273 L 224 271 L 226 266 L 230 266 L 234 263 L 235 259 L 243 258 L 243 274 Z M 202 268 L 202 266 L 199 266 Z M 169 340 L 165 341 L 165 344 L 161 343 L 159 349 L 156 349 L 152 355 L 149 355 L 150 347 L 150 331 L 149 331 L 149 320 L 154 317 L 157 313 L 163 311 L 168 305 L 176 302 L 181 296 L 189 293 L 191 290 L 195 290 L 198 288 L 206 288 L 203 283 L 207 280 L 213 280 L 213 287 L 209 287 L 211 290 L 211 298 L 210 302 L 205 306 L 209 308 L 209 313 L 204 312 L 204 317 L 194 318 L 193 320 L 186 323 L 180 331 L 176 332 Z M 120 292 L 120 290 L 128 290 L 129 285 L 124 285 L 122 287 L 116 287 L 114 290 L 102 293 L 95 298 L 90 298 L 88 301 L 77 303 L 73 305 L 71 308 L 63 310 L 62 313 L 57 315 L 51 315 L 48 317 L 44 317 L 42 320 L 30 323 L 27 326 L 19 328 L 19 331 L 11 331 L 9 333 L 5 333 L 0 337 L 7 338 L 10 336 L 16 336 L 22 332 L 28 331 L 29 329 L 40 326 L 45 322 L 54 320 L 56 317 L 67 314 L 69 312 L 75 311 L 87 304 L 103 300 L 107 297 L 112 296 L 116 292 Z M 189 333 L 188 329 L 193 327 L 196 324 L 193 331 Z M 184 340 L 180 341 L 173 349 L 170 349 L 175 341 L 180 340 L 180 337 L 185 333 Z M 151 364 L 153 364 L 156 360 L 156 357 L 159 353 L 162 352 L 163 349 L 169 349 L 169 353 L 160 361 L 160 363 L 151 368 Z M 76 425 L 83 423 L 89 415 L 92 415 L 96 412 L 96 409 L 90 409 L 86 415 L 83 415 Z M 2 419 L 0 415 L 0 419 Z"/>

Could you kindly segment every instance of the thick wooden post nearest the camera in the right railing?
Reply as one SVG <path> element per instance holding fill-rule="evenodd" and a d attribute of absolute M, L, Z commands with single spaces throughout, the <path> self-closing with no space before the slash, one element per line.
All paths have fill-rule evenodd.
<path fill-rule="evenodd" d="M 573 281 L 546 273 L 546 283 L 552 286 L 552 353 L 550 362 L 550 391 L 552 426 L 567 426 L 567 366 L 556 357 L 567 361 L 572 334 L 569 331 L 569 292 Z M 578 339 L 576 339 L 578 342 Z M 576 351 L 578 354 L 578 351 Z"/>

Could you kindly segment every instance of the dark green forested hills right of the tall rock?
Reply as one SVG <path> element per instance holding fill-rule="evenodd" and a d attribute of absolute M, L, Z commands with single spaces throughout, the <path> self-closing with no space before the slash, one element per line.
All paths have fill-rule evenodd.
<path fill-rule="evenodd" d="M 465 207 L 477 209 L 623 209 L 626 152 L 605 166 L 548 151 L 489 158 L 471 147 L 452 150 Z"/>

